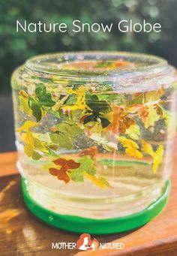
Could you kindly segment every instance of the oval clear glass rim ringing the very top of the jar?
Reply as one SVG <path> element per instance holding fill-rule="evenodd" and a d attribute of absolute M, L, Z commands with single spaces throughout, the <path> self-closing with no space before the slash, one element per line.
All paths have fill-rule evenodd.
<path fill-rule="evenodd" d="M 139 67 L 127 68 L 115 68 L 114 70 L 101 70 L 100 68 L 94 68 L 94 70 L 88 70 L 85 68 L 62 68 L 64 64 L 76 62 L 76 61 L 130 61 L 132 63 L 140 62 L 144 65 Z M 46 53 L 43 55 L 34 56 L 27 60 L 26 67 L 32 71 L 40 71 L 47 74 L 61 75 L 61 74 L 73 74 L 86 76 L 116 76 L 126 72 L 136 73 L 144 71 L 154 71 L 157 68 L 163 68 L 168 63 L 165 59 L 144 54 L 144 53 L 128 53 L 128 52 L 107 52 L 107 51 L 81 51 L 81 52 L 68 52 L 68 53 Z"/>

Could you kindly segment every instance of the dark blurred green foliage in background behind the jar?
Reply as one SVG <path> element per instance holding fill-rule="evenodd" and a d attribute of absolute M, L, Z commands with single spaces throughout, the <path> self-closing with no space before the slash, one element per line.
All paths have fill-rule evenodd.
<path fill-rule="evenodd" d="M 0 92 L 10 92 L 10 75 L 30 56 L 69 50 L 126 50 L 152 53 L 177 65 L 176 0 L 0 0 Z M 160 33 L 25 33 L 16 20 L 28 23 L 160 23 Z"/>

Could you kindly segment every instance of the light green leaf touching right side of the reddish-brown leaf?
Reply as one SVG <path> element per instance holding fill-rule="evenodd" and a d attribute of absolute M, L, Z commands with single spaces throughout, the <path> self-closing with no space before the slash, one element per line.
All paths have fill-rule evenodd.
<path fill-rule="evenodd" d="M 89 156 L 84 156 L 83 158 L 77 159 L 77 161 L 80 162 L 80 167 L 69 174 L 74 182 L 83 182 L 84 173 L 95 175 L 95 161 L 92 158 Z"/>

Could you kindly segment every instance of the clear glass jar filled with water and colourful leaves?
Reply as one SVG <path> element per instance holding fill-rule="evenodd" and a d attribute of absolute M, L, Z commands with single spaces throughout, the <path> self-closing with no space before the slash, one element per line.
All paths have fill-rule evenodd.
<path fill-rule="evenodd" d="M 172 170 L 174 83 L 165 60 L 135 53 L 36 56 L 13 73 L 17 167 L 48 222 L 77 216 L 103 223 L 163 196 Z M 58 224 L 74 230 L 66 226 Z"/>

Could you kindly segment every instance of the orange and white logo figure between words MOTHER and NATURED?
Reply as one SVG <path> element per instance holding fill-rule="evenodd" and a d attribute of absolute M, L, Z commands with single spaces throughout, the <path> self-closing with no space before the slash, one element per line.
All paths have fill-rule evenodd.
<path fill-rule="evenodd" d="M 96 250 L 99 247 L 97 239 L 91 239 L 89 233 L 82 233 L 77 240 L 77 248 L 83 251 Z"/>

